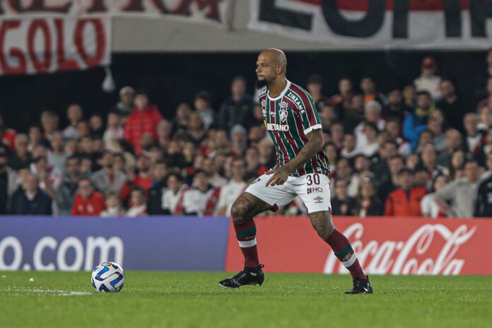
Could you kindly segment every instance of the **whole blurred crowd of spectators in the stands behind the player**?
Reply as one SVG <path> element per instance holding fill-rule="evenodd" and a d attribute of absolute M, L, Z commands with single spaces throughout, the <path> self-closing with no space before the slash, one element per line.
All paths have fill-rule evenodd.
<path fill-rule="evenodd" d="M 454 81 L 435 75 L 432 57 L 413 83 L 386 93 L 366 76 L 358 85 L 341 78 L 338 93 L 327 96 L 321 76 L 307 78 L 324 131 L 333 214 L 492 217 L 492 51 L 486 62 L 476 108 L 462 102 Z M 238 76 L 217 110 L 204 90 L 168 117 L 145 90 L 127 86 L 104 114 L 86 117 L 74 103 L 61 127 L 44 110 L 27 134 L 0 115 L 0 214 L 228 215 L 276 161 L 262 107 L 246 87 Z M 298 199 L 281 209 L 304 213 Z"/>

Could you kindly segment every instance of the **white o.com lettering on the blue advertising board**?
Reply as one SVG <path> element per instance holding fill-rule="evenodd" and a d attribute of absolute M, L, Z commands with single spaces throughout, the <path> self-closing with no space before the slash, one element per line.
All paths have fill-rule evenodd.
<path fill-rule="evenodd" d="M 88 236 L 83 242 L 69 236 L 58 242 L 52 236 L 45 236 L 36 242 L 32 256 L 25 254 L 18 238 L 6 236 L 0 240 L 0 270 L 90 271 L 106 261 L 123 265 L 123 255 L 124 245 L 119 237 Z"/>

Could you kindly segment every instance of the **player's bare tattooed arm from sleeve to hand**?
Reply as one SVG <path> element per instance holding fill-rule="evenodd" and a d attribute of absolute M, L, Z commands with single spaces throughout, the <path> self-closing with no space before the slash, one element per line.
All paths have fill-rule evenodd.
<path fill-rule="evenodd" d="M 313 158 L 321 150 L 321 148 L 323 148 L 322 129 L 311 130 L 308 134 L 306 134 L 306 137 L 307 144 L 305 144 L 297 156 L 290 160 L 286 165 L 279 168 L 274 168 L 273 170 L 269 170 L 265 173 L 273 173 L 268 182 L 266 182 L 266 187 L 283 185 L 293 170 L 300 167 L 304 163 L 307 163 L 307 161 L 311 160 L 311 158 Z"/>

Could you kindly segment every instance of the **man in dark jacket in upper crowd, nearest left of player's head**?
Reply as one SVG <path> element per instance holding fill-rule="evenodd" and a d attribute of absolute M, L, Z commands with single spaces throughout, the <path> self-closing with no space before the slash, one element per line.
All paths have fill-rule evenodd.
<path fill-rule="evenodd" d="M 236 124 L 250 129 L 254 124 L 254 100 L 246 93 L 246 79 L 236 76 L 230 85 L 231 95 L 222 103 L 219 125 L 230 131 Z"/>

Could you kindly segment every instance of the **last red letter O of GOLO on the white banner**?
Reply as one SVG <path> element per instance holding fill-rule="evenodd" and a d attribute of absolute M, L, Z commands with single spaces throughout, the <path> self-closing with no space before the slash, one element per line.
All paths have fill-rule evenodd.
<path fill-rule="evenodd" d="M 86 28 L 87 24 L 93 24 L 96 31 L 96 46 L 95 54 L 90 56 L 86 51 L 83 44 L 83 30 Z M 100 32 L 100 33 L 98 33 Z M 98 66 L 102 57 L 106 52 L 106 35 L 102 22 L 98 19 L 81 19 L 77 22 L 74 35 L 75 47 L 77 48 L 78 54 L 81 55 L 82 60 L 86 63 L 88 67 Z"/>

